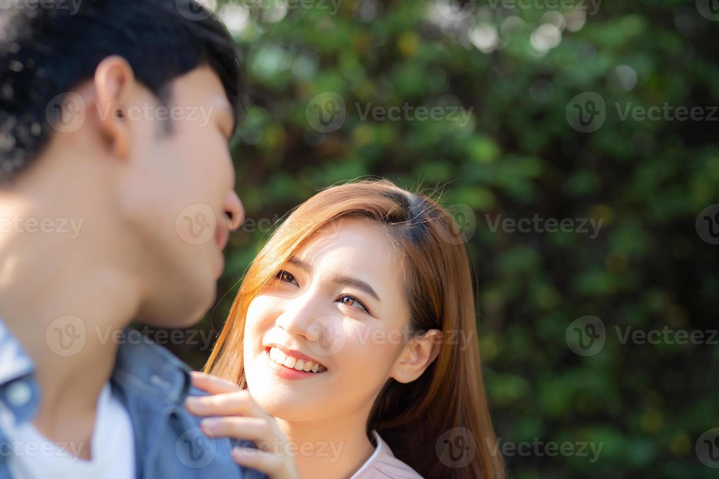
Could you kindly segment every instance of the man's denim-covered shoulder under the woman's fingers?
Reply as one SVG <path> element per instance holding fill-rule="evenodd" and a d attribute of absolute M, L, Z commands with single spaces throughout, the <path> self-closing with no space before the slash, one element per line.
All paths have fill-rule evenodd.
<path fill-rule="evenodd" d="M 191 386 L 191 368 L 134 331 L 119 345 L 112 382 L 137 429 L 145 477 L 265 478 L 240 468 L 232 458 L 233 443 L 206 437 L 201 418 L 185 409 L 188 395 L 206 394 Z"/>

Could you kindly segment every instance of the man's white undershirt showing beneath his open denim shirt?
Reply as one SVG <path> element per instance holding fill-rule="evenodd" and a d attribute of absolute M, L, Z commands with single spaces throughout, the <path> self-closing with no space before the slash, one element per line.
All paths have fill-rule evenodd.
<path fill-rule="evenodd" d="M 132 420 L 111 393 L 109 383 L 105 384 L 97 401 L 91 440 L 92 460 L 78 459 L 80 447 L 56 445 L 40 434 L 32 422 L 12 430 L 11 437 L 17 441 L 9 457 L 10 475 L 14 479 L 134 478 Z"/>

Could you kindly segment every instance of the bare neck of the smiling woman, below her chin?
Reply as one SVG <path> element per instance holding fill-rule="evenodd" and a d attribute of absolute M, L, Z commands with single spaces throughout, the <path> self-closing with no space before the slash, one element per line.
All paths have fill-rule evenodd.
<path fill-rule="evenodd" d="M 331 419 L 287 422 L 277 419 L 287 434 L 303 478 L 349 479 L 375 452 L 367 438 L 369 411 Z"/>

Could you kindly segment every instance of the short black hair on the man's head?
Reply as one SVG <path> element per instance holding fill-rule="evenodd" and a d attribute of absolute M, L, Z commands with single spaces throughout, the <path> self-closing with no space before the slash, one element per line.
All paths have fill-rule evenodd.
<path fill-rule="evenodd" d="M 55 130 L 46 108 L 110 55 L 162 100 L 200 65 L 219 76 L 239 115 L 242 65 L 232 37 L 196 0 L 19 0 L 0 9 L 0 184 L 40 154 Z"/>

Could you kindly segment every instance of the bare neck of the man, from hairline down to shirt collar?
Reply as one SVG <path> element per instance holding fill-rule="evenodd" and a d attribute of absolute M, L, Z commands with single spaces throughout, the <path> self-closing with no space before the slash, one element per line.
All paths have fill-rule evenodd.
<path fill-rule="evenodd" d="M 22 220 L 0 235 L 0 320 L 35 364 L 35 426 L 56 442 L 83 443 L 88 458 L 97 399 L 117 353 L 107 332 L 129 324 L 141 296 L 127 264 L 103 246 L 110 238 L 102 206 L 61 203 L 0 197 L 0 218 Z M 57 231 L 68 217 L 83 219 L 86 231 L 74 238 Z M 56 231 L 29 232 L 28 218 L 48 218 Z"/>

